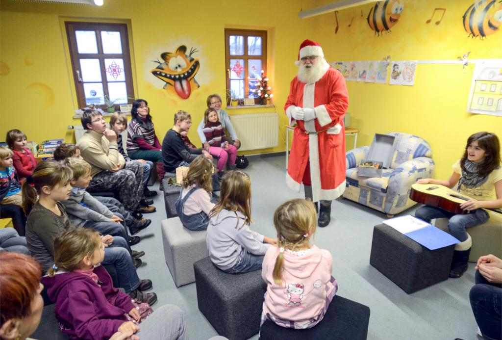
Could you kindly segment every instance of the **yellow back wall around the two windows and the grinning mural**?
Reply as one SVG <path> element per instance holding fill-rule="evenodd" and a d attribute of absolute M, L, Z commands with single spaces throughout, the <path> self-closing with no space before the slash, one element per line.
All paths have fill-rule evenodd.
<path fill-rule="evenodd" d="M 216 5 L 214 5 L 216 3 Z M 176 110 L 192 114 L 200 122 L 206 108 L 206 97 L 211 93 L 225 93 L 224 29 L 254 28 L 269 31 L 268 77 L 273 88 L 275 108 L 280 125 L 286 124 L 283 105 L 289 82 L 296 70 L 294 61 L 298 46 L 312 35 L 315 20 L 300 20 L 300 0 L 270 2 L 266 9 L 252 3 L 232 5 L 227 1 L 195 0 L 186 7 L 162 0 L 143 2 L 134 0 L 106 1 L 101 8 L 79 5 L 51 5 L 1 1 L 0 77 L 0 139 L 10 129 L 23 130 L 29 140 L 37 142 L 49 138 L 73 141 L 68 125 L 77 109 L 71 62 L 67 52 L 65 19 L 126 22 L 130 26 L 132 57 L 135 63 L 135 92 L 149 101 L 156 131 L 162 140 L 172 127 Z M 280 15 L 279 15 L 280 14 Z M 174 52 L 181 44 L 190 49 L 201 67 L 195 79 L 201 87 L 187 100 L 169 95 L 164 83 L 150 74 L 157 66 L 152 60 L 166 51 Z M 276 60 L 274 63 L 273 60 Z M 232 110 L 230 114 L 270 112 L 274 108 Z M 192 129 L 189 137 L 200 143 Z M 284 129 L 277 148 L 253 151 L 276 152 L 285 150 Z"/>

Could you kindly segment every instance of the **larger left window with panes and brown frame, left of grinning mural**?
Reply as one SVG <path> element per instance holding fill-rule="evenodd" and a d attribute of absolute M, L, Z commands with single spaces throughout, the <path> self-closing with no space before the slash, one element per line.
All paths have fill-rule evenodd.
<path fill-rule="evenodd" d="M 126 24 L 67 22 L 66 33 L 79 107 L 134 98 Z"/>

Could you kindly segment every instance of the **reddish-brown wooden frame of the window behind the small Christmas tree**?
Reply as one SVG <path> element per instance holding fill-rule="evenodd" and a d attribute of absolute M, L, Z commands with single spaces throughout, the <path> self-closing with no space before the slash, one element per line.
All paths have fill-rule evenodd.
<path fill-rule="evenodd" d="M 267 35 L 265 30 L 240 30 L 240 29 L 225 29 L 225 71 L 226 71 L 226 88 L 230 89 L 230 59 L 243 59 L 244 60 L 244 98 L 249 96 L 249 80 L 248 80 L 248 61 L 249 60 L 262 60 L 262 70 L 267 74 Z M 243 36 L 244 37 L 244 54 L 243 55 L 230 55 L 230 36 Z M 247 54 L 247 37 L 261 37 L 262 38 L 262 55 L 248 55 Z M 241 80 L 241 79 L 239 79 Z M 239 98 L 242 99 L 242 98 Z M 255 104 L 260 101 L 259 98 L 254 98 Z"/>

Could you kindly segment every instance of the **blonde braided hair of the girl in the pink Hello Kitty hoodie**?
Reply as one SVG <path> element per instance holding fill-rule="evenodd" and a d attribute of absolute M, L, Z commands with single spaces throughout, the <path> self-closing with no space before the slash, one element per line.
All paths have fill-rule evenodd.
<path fill-rule="evenodd" d="M 289 250 L 304 248 L 316 230 L 316 212 L 312 201 L 295 198 L 281 204 L 274 212 L 277 247 Z M 282 283 L 283 252 L 279 252 L 272 277 Z"/>

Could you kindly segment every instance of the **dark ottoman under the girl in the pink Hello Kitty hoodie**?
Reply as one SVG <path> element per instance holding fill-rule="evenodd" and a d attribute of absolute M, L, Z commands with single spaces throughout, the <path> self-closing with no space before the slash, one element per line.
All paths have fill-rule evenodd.
<path fill-rule="evenodd" d="M 335 295 L 321 322 L 308 329 L 278 326 L 266 320 L 260 329 L 260 340 L 365 340 L 368 335 L 369 307 Z"/>

